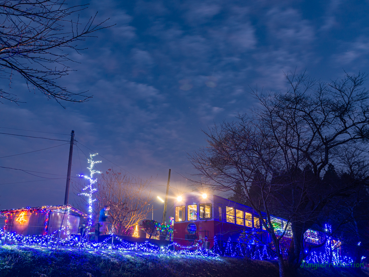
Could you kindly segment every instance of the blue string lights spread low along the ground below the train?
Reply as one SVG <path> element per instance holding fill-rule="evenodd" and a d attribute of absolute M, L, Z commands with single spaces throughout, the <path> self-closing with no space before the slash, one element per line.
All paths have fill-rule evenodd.
<path fill-rule="evenodd" d="M 331 232 L 331 226 L 326 225 L 327 229 Z M 15 233 L 5 233 L 4 230 L 0 232 L 1 240 L 5 241 L 7 244 L 27 244 L 33 246 L 44 246 L 44 247 L 53 247 L 56 245 L 55 237 L 58 231 L 50 235 L 44 236 L 24 236 L 24 235 L 16 235 Z M 325 252 L 317 253 L 312 252 L 308 255 L 306 263 L 333 263 L 349 265 L 353 263 L 353 260 L 347 256 L 341 256 L 339 254 L 339 245 L 340 242 L 333 242 L 332 237 L 327 234 L 327 240 L 324 246 Z M 54 240 L 53 240 L 54 239 Z M 230 238 L 228 238 L 227 246 L 225 247 L 224 253 L 221 251 L 221 247 L 219 246 L 217 236 L 214 237 L 214 248 L 213 250 L 199 249 L 199 245 L 197 245 L 197 249 L 194 246 L 182 246 L 175 242 L 169 244 L 166 247 L 159 247 L 157 245 L 151 244 L 146 241 L 144 243 L 130 243 L 126 242 L 119 237 L 114 237 L 114 242 L 119 242 L 115 244 L 111 244 L 111 237 L 108 237 L 103 242 L 94 242 L 87 241 L 86 237 L 83 237 L 81 240 L 81 246 L 87 250 L 101 250 L 101 251 L 142 251 L 148 253 L 156 253 L 156 254 L 168 254 L 168 255 L 201 255 L 204 257 L 217 258 L 219 256 L 231 256 L 231 257 L 249 257 L 254 260 L 272 260 L 276 259 L 273 255 L 268 253 L 268 248 L 265 244 L 259 244 L 258 242 L 251 241 L 248 243 L 231 242 Z M 79 247 L 79 239 L 76 236 L 68 236 L 65 239 L 59 240 L 61 246 L 64 247 Z M 175 250 L 175 247 L 177 250 Z M 331 252 L 332 251 L 332 252 Z M 329 261 L 330 254 L 332 260 Z M 365 257 L 362 257 L 365 259 Z"/>

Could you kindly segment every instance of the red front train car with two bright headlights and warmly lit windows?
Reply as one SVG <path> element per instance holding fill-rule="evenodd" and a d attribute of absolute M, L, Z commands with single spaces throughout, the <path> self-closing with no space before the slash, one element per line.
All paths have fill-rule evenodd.
<path fill-rule="evenodd" d="M 193 246 L 201 240 L 210 249 L 214 237 L 218 241 L 237 242 L 243 231 L 254 232 L 261 242 L 269 243 L 269 234 L 248 206 L 217 195 L 189 192 L 174 201 L 173 241 L 182 246 Z M 282 219 L 278 219 L 283 224 Z"/>

